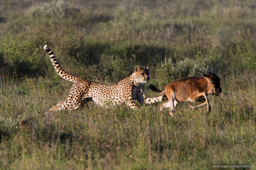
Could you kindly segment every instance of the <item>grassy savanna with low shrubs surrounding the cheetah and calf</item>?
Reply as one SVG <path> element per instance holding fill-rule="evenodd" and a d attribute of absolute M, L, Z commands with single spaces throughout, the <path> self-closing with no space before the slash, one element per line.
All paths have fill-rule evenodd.
<path fill-rule="evenodd" d="M 45 44 L 80 78 L 114 84 L 138 65 L 163 90 L 211 70 L 223 92 L 210 114 L 92 102 L 45 114 L 73 84 Z M 251 0 L 0 1 L 0 169 L 255 169 L 255 47 Z"/>

